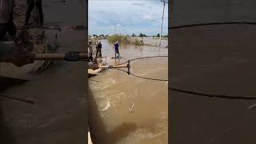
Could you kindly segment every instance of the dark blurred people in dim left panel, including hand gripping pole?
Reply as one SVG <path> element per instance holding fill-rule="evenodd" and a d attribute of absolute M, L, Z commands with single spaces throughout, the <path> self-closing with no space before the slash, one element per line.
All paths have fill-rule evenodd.
<path fill-rule="evenodd" d="M 26 0 L 27 10 L 24 26 L 29 25 L 31 12 L 37 6 L 40 25 L 43 25 L 42 0 Z M 33 62 L 32 54 L 6 43 L 6 34 L 16 41 L 16 26 L 14 25 L 14 0 L 0 0 L 0 62 L 11 62 L 23 66 Z"/>

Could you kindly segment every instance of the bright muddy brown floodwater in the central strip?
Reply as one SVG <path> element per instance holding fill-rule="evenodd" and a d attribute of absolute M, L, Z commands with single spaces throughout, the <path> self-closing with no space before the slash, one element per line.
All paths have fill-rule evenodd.
<path fill-rule="evenodd" d="M 166 41 L 167 42 L 167 41 Z M 167 48 L 121 45 L 120 60 L 113 44 L 102 40 L 108 65 L 146 56 L 168 55 Z M 168 78 L 168 58 L 146 58 L 130 63 L 131 73 Z M 126 69 L 123 69 L 126 70 Z M 168 83 L 136 78 L 120 70 L 104 70 L 91 77 L 89 125 L 95 143 L 168 143 Z"/>

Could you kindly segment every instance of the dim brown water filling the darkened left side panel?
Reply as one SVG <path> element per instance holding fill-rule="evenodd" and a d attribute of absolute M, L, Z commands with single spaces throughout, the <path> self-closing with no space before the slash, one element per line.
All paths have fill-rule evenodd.
<path fill-rule="evenodd" d="M 71 8 L 69 5 L 62 6 L 62 2 L 43 7 L 46 24 L 61 21 L 62 26 L 82 25 L 84 8 L 80 1 L 67 2 Z M 63 18 L 67 11 L 69 14 Z M 49 32 L 49 38 L 53 34 L 55 32 Z M 58 52 L 86 51 L 85 34 L 83 30 L 59 33 Z M 28 74 L 30 82 L 4 91 L 8 96 L 32 99 L 35 102 L 30 105 L 2 99 L 1 133 L 7 136 L 1 136 L 13 141 L 6 143 L 87 142 L 85 66 L 86 62 L 55 61 L 40 74 Z"/>

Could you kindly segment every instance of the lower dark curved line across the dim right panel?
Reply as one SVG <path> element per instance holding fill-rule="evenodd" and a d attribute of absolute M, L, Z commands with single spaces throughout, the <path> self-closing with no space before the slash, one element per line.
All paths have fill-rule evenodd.
<path fill-rule="evenodd" d="M 184 94 L 193 94 L 193 95 L 198 95 L 202 97 L 208 97 L 208 98 L 226 98 L 226 99 L 239 99 L 239 100 L 256 100 L 256 97 L 253 96 L 235 96 L 235 95 L 224 95 L 224 94 L 206 94 L 202 92 L 196 92 L 192 90 L 182 90 L 178 88 L 170 88 L 168 87 L 169 90 L 173 90 L 179 93 L 184 93 Z"/>

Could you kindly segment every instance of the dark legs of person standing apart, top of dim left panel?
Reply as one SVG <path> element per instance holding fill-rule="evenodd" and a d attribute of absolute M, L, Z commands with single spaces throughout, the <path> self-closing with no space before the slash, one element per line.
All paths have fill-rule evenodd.
<path fill-rule="evenodd" d="M 30 15 L 32 10 L 34 9 L 34 5 L 37 6 L 39 11 L 39 17 L 40 17 L 40 25 L 43 26 L 43 14 L 42 14 L 42 0 L 26 0 L 27 3 L 27 10 L 26 10 L 26 20 L 25 20 L 25 26 L 28 25 L 28 22 L 30 21 Z"/>

